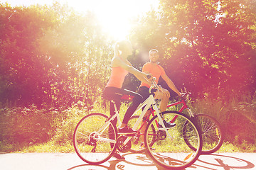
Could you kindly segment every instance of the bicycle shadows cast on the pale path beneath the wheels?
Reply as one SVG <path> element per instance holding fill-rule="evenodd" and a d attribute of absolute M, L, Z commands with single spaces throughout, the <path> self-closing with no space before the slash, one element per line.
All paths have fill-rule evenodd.
<path fill-rule="evenodd" d="M 139 169 L 159 169 L 164 170 L 161 166 L 154 164 L 145 154 L 123 154 L 125 161 L 110 160 L 100 165 L 81 164 L 73 166 L 68 170 L 78 169 L 97 169 L 97 170 L 139 170 Z M 108 164 L 107 164 L 108 163 Z M 106 166 L 107 164 L 107 166 Z M 186 170 L 190 169 L 210 169 L 210 170 L 233 170 L 233 169 L 253 169 L 255 164 L 238 157 L 230 157 L 222 154 L 201 155 L 199 159 Z"/>

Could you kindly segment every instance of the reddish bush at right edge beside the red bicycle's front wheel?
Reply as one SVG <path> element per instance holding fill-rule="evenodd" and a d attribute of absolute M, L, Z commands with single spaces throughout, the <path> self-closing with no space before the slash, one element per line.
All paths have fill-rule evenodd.
<path fill-rule="evenodd" d="M 255 96 L 239 96 L 226 103 L 203 99 L 192 104 L 196 113 L 206 113 L 216 118 L 223 127 L 225 140 L 241 145 L 256 142 Z"/>

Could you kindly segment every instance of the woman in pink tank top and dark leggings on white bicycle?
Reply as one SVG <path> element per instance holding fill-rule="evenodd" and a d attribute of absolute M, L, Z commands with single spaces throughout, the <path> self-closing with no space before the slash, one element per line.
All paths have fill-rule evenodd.
<path fill-rule="evenodd" d="M 107 83 L 103 91 L 103 97 L 107 100 L 112 100 L 117 106 L 117 111 L 121 106 L 121 98 L 123 95 L 132 96 L 132 104 L 127 109 L 127 112 L 124 114 L 124 119 L 122 125 L 120 126 L 118 133 L 122 135 L 134 134 L 136 131 L 127 127 L 129 118 L 132 117 L 132 114 L 137 109 L 140 103 L 142 103 L 143 98 L 141 95 L 122 89 L 122 84 L 124 82 L 124 77 L 128 74 L 134 74 L 137 79 L 143 81 L 146 84 L 150 84 L 149 79 L 146 76 L 151 74 L 146 74 L 140 72 L 139 70 L 132 67 L 132 64 L 127 60 L 127 57 L 132 55 L 132 45 L 128 40 L 122 40 L 116 43 L 114 46 L 114 57 L 111 62 L 111 76 L 110 80 Z M 114 103 L 110 102 L 110 115 L 114 115 Z M 117 124 L 117 118 L 114 119 L 113 124 Z M 117 159 L 122 159 L 121 156 L 114 154 L 114 157 Z"/>

